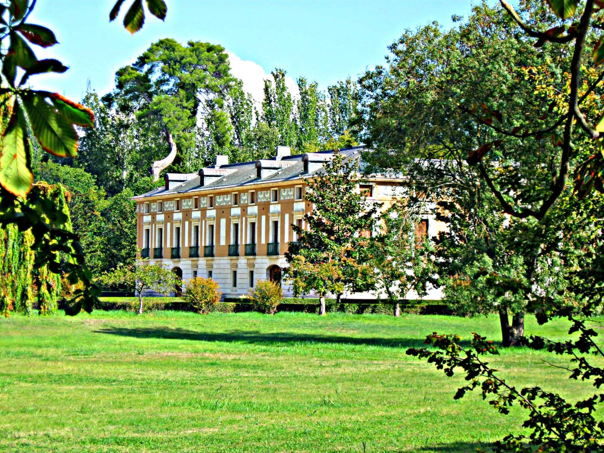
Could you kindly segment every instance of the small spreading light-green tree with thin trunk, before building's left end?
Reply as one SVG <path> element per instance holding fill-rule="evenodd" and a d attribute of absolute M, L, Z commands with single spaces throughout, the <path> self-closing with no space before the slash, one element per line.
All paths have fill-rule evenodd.
<path fill-rule="evenodd" d="M 148 260 L 141 260 L 138 266 L 120 266 L 108 274 L 103 274 L 99 279 L 101 284 L 129 284 L 138 295 L 138 314 L 143 314 L 143 292 L 155 291 L 162 294 L 174 289 L 181 284 L 173 272 L 164 266 L 151 264 Z"/>

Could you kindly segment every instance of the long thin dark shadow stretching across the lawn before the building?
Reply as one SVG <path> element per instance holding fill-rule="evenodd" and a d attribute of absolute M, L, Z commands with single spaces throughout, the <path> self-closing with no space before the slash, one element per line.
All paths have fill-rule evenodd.
<path fill-rule="evenodd" d="M 413 338 L 358 338 L 336 335 L 318 335 L 291 332 L 259 332 L 258 330 L 230 330 L 228 332 L 196 332 L 169 327 L 107 327 L 95 330 L 107 335 L 131 336 L 133 338 L 184 339 L 191 341 L 225 341 L 244 343 L 326 343 L 372 345 L 393 348 L 424 347 L 422 340 Z"/>

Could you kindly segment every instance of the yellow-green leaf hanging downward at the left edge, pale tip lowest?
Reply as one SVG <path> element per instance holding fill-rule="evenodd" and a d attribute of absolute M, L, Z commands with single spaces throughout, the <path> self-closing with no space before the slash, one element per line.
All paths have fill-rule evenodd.
<path fill-rule="evenodd" d="M 10 193 L 23 197 L 30 191 L 33 182 L 27 123 L 19 104 L 15 103 L 13 115 L 2 137 L 0 184 Z"/>

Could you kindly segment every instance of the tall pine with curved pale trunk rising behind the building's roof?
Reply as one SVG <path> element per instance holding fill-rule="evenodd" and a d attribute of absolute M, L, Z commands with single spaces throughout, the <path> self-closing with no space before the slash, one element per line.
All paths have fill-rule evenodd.
<path fill-rule="evenodd" d="M 223 109 L 234 79 L 223 47 L 198 41 L 182 46 L 161 39 L 135 63 L 119 69 L 115 80 L 112 98 L 118 109 L 159 125 L 170 149 L 166 158 L 153 164 L 156 179 L 175 159 L 179 171 L 203 166 L 207 156 L 196 151 L 196 136 L 203 130 L 198 117 L 211 143 L 228 147 L 232 132 Z"/>

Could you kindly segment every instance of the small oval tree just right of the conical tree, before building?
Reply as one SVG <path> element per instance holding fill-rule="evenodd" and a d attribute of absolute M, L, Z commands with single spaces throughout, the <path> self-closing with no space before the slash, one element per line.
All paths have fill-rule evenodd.
<path fill-rule="evenodd" d="M 434 248 L 417 213 L 400 203 L 385 210 L 381 220 L 370 246 L 371 265 L 377 289 L 393 304 L 394 316 L 399 316 L 399 300 L 410 291 L 423 297 L 426 283 L 435 280 Z"/>

